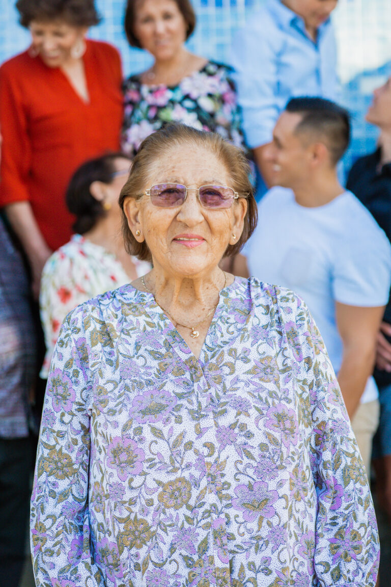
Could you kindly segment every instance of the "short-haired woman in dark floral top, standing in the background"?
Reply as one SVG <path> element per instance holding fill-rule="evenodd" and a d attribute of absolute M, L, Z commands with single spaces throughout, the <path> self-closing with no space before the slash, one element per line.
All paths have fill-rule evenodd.
<path fill-rule="evenodd" d="M 185 47 L 195 24 L 189 0 L 128 0 L 128 41 L 151 53 L 154 64 L 125 82 L 125 152 L 135 154 L 145 137 L 172 121 L 244 147 L 231 69 Z"/>

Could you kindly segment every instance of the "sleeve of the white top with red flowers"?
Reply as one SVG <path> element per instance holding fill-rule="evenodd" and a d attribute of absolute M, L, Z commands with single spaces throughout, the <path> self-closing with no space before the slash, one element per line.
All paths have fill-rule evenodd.
<path fill-rule="evenodd" d="M 62 254 L 60 250 L 46 261 L 39 293 L 40 318 L 46 346 L 45 362 L 40 374 L 44 379 L 49 373 L 53 349 L 64 318 L 92 295 L 88 291 L 84 272 L 74 259 Z"/>

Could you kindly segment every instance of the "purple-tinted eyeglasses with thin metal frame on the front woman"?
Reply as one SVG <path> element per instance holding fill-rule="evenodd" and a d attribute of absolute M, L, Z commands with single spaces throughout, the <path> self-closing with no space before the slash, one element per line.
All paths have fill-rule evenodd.
<path fill-rule="evenodd" d="M 199 203 L 203 208 L 226 210 L 239 198 L 239 194 L 226 185 L 201 185 L 199 188 L 186 187 L 182 184 L 152 185 L 145 194 L 151 198 L 151 203 L 159 208 L 175 208 L 186 200 L 188 190 L 195 190 Z"/>

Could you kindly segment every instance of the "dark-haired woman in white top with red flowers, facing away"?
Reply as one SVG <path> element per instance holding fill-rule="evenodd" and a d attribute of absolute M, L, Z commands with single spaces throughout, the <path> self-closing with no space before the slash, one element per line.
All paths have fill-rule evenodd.
<path fill-rule="evenodd" d="M 76 234 L 47 260 L 42 272 L 40 314 L 46 355 L 40 376 L 47 378 L 63 319 L 87 299 L 115 289 L 151 269 L 125 252 L 118 197 L 130 158 L 111 153 L 87 161 L 74 174 L 67 207 L 76 216 Z"/>

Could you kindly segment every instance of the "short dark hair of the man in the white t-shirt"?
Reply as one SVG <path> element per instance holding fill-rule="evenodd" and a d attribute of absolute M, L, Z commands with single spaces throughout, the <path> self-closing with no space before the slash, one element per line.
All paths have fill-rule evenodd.
<path fill-rule="evenodd" d="M 285 107 L 286 112 L 302 115 L 295 133 L 310 132 L 324 139 L 331 163 L 336 165 L 348 148 L 351 123 L 348 110 L 331 100 L 319 97 L 297 97 Z"/>

